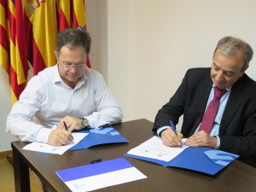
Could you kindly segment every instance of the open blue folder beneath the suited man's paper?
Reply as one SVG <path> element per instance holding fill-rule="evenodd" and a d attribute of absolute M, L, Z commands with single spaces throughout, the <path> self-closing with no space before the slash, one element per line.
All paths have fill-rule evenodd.
<path fill-rule="evenodd" d="M 197 172 L 204 172 L 210 175 L 215 175 L 238 157 L 236 154 L 230 154 L 224 151 L 205 147 L 186 148 L 181 154 L 178 154 L 169 162 L 133 154 L 124 155 L 139 160 L 154 162 L 161 166 L 175 166 Z"/>

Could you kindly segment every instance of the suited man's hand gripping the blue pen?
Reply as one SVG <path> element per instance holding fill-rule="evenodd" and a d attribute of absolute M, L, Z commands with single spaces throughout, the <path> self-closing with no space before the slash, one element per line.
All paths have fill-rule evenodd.
<path fill-rule="evenodd" d="M 172 128 L 168 128 L 164 131 L 161 131 L 162 143 L 169 147 L 175 147 L 181 145 L 181 140 L 183 134 L 180 131 L 172 131 Z"/>

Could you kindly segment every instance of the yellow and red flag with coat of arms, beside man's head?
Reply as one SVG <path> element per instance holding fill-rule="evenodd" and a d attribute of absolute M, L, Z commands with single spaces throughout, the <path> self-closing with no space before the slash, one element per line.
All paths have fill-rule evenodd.
<path fill-rule="evenodd" d="M 54 1 L 25 1 L 28 60 L 34 74 L 55 65 L 55 3 Z"/>

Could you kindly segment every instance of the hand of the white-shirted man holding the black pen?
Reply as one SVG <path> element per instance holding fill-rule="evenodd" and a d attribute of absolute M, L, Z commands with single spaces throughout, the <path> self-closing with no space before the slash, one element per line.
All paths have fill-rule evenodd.
<path fill-rule="evenodd" d="M 66 145 L 73 141 L 73 136 L 70 131 L 66 131 L 63 124 L 59 124 L 58 127 L 51 131 L 48 138 L 48 144 L 54 146 Z"/>

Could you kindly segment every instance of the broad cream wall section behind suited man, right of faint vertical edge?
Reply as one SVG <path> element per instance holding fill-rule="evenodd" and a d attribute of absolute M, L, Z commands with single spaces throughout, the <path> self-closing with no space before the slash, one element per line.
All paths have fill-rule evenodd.
<path fill-rule="evenodd" d="M 189 67 L 210 67 L 219 38 L 240 37 L 256 51 L 255 7 L 252 0 L 131 0 L 128 119 L 153 121 Z M 247 73 L 256 79 L 255 58 Z"/>

